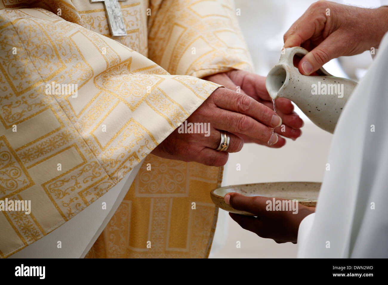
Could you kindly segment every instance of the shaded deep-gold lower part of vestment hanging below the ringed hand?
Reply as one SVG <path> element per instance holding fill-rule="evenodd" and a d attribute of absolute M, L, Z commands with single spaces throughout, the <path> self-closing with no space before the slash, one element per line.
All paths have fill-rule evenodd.
<path fill-rule="evenodd" d="M 151 171 L 147 171 L 148 163 Z M 196 173 L 192 169 L 206 169 L 208 174 L 197 176 L 201 171 Z M 221 173 L 222 168 L 148 155 L 123 202 L 86 257 L 206 257 L 218 212 L 210 200 L 209 189 L 220 186 Z"/>

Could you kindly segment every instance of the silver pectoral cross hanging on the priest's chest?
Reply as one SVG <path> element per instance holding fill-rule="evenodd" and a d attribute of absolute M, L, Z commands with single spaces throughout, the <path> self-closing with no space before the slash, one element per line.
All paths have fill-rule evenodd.
<path fill-rule="evenodd" d="M 111 28 L 111 33 L 113 36 L 126 36 L 126 29 L 121 15 L 121 8 L 118 1 L 123 0 L 90 0 L 90 3 L 93 2 L 104 2 L 107 20 L 109 23 L 109 28 Z"/>

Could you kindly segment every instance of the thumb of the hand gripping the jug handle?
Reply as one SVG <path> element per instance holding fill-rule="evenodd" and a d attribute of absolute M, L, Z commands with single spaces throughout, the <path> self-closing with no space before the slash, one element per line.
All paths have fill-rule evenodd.
<path fill-rule="evenodd" d="M 298 64 L 301 74 L 310 75 L 331 59 L 341 55 L 341 40 L 334 35 L 328 36 L 322 43 L 305 55 Z"/>

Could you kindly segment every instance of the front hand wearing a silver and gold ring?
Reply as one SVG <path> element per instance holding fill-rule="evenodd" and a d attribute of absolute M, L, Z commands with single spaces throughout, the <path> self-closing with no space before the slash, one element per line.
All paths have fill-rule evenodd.
<path fill-rule="evenodd" d="M 238 152 L 244 143 L 235 133 L 262 144 L 270 141 L 275 146 L 281 146 L 278 136 L 272 130 L 281 125 L 281 118 L 266 105 L 227 88 L 217 88 L 211 93 L 187 118 L 187 125 L 190 123 L 203 123 L 203 126 L 210 128 L 206 133 L 182 133 L 183 128 L 177 128 L 152 150 L 152 154 L 168 159 L 222 166 L 228 160 L 228 152 Z M 221 131 L 227 132 L 230 141 L 227 150 L 220 152 L 216 149 L 221 142 Z"/>

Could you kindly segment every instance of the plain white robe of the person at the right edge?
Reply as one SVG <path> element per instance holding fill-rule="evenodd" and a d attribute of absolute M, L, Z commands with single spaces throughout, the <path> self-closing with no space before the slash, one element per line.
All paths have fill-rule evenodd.
<path fill-rule="evenodd" d="M 298 257 L 388 257 L 388 34 L 340 116 Z"/>

